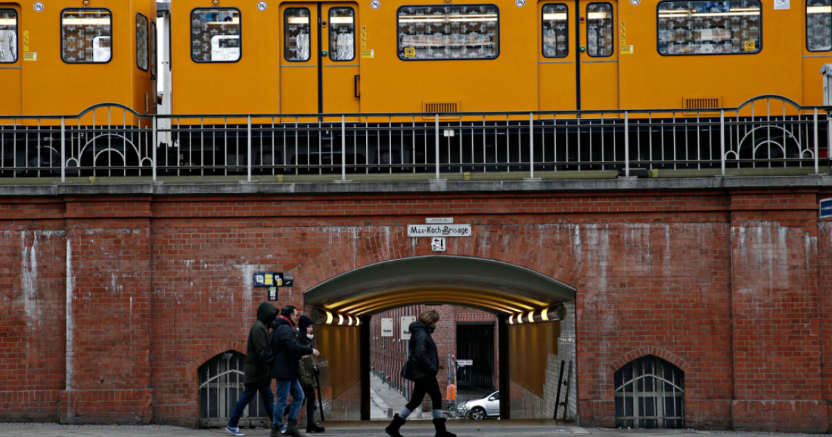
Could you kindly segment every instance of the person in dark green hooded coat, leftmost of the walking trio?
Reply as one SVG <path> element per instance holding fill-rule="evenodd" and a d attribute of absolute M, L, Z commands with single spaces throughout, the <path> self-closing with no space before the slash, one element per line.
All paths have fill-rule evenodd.
<path fill-rule="evenodd" d="M 255 400 L 257 393 L 263 398 L 265 414 L 272 420 L 275 408 L 275 395 L 271 392 L 271 378 L 269 365 L 260 358 L 260 351 L 265 349 L 269 341 L 269 326 L 275 321 L 278 310 L 275 305 L 269 302 L 261 302 L 257 307 L 257 320 L 251 325 L 249 331 L 248 345 L 246 346 L 245 367 L 243 368 L 243 394 L 234 406 L 234 412 L 225 425 L 225 430 L 232 435 L 243 436 L 237 426 L 240 424 L 240 416 L 243 415 L 245 407 Z"/>

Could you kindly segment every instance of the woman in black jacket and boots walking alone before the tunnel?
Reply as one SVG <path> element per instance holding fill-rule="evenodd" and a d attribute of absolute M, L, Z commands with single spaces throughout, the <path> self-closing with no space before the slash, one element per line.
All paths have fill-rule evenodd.
<path fill-rule="evenodd" d="M 433 342 L 433 330 L 439 321 L 436 310 L 424 310 L 418 319 L 410 324 L 409 356 L 402 369 L 402 376 L 414 381 L 413 395 L 399 414 L 393 416 L 393 422 L 384 429 L 390 437 L 402 437 L 399 429 L 404 425 L 410 413 L 422 405 L 424 395 L 430 395 L 433 402 L 433 427 L 436 437 L 457 437 L 445 428 L 445 418 L 442 416 L 442 390 L 439 390 L 439 354 L 436 343 Z"/>

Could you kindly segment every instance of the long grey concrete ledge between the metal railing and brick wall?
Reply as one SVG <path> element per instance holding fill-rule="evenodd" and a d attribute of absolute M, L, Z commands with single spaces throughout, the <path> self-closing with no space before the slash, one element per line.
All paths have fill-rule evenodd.
<path fill-rule="evenodd" d="M 187 196 L 258 194 L 355 194 L 419 192 L 728 190 L 820 188 L 832 176 L 727 176 L 649 179 L 562 179 L 533 181 L 395 181 L 310 183 L 53 184 L 0 186 L 2 196 Z"/>

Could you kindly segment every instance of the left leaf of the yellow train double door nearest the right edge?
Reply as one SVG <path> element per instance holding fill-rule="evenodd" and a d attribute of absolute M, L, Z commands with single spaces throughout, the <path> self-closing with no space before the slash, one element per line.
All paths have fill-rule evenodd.
<path fill-rule="evenodd" d="M 575 3 L 543 0 L 537 3 L 537 90 L 541 111 L 576 109 Z M 572 12 L 570 15 L 569 12 Z M 572 33 L 570 33 L 572 32 Z"/>

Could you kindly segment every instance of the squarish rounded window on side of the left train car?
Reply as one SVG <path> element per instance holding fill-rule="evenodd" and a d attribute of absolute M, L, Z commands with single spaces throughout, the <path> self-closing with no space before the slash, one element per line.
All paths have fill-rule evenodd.
<path fill-rule="evenodd" d="M 67 63 L 104 63 L 112 59 L 112 15 L 107 9 L 61 12 L 61 58 Z"/>

